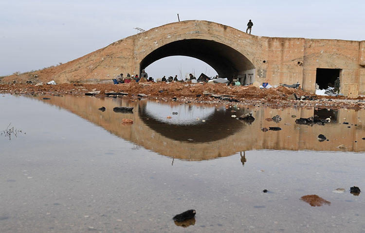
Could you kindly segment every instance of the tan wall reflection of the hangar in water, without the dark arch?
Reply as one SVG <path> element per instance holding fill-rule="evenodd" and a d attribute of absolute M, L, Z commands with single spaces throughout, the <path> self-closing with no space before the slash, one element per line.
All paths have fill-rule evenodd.
<path fill-rule="evenodd" d="M 52 97 L 51 100 L 45 100 L 59 107 L 68 109 L 74 114 L 81 116 L 90 122 L 99 125 L 110 133 L 131 141 L 137 145 L 143 146 L 147 150 L 153 150 L 162 155 L 171 158 L 185 160 L 205 160 L 223 156 L 229 156 L 237 151 L 273 149 L 273 150 L 346 150 L 346 151 L 365 151 L 365 127 L 361 120 L 365 118 L 365 110 L 354 111 L 340 109 L 337 113 L 338 119 L 346 118 L 349 125 L 343 124 L 326 124 L 320 125 L 298 125 L 295 124 L 295 118 L 310 117 L 314 115 L 314 110 L 310 109 L 269 109 L 255 108 L 252 110 L 256 118 L 251 125 L 242 121 L 233 119 L 233 124 L 242 124 L 235 133 L 229 132 L 222 134 L 224 137 L 213 142 L 197 141 L 179 141 L 171 139 L 168 134 L 159 133 L 150 128 L 143 117 L 140 117 L 139 109 L 143 109 L 146 101 L 131 101 L 128 99 L 97 99 L 94 97 Z M 172 103 L 168 103 L 172 104 Z M 178 103 L 174 103 L 178 104 Z M 101 106 L 106 107 L 105 112 L 98 110 Z M 114 113 L 115 106 L 133 106 L 133 114 Z M 141 106 L 141 107 L 139 107 Z M 202 105 L 201 105 L 202 106 Z M 208 105 L 208 107 L 215 105 Z M 227 111 L 227 115 L 231 113 Z M 239 116 L 242 113 L 234 113 Z M 279 123 L 266 121 L 275 115 L 281 116 Z M 225 116 L 223 116 L 225 117 Z M 121 119 L 131 118 L 134 123 L 125 126 Z M 340 120 L 339 120 L 340 121 Z M 339 123 L 342 123 L 341 121 Z M 353 125 L 351 125 L 353 124 Z M 355 126 L 356 124 L 356 126 Z M 263 127 L 278 126 L 281 131 L 262 132 Z M 350 128 L 347 128 L 350 126 Z M 164 124 L 168 128 L 169 125 Z M 329 141 L 319 142 L 318 134 L 324 134 Z M 206 135 L 212 133 L 207 132 Z M 355 142 L 357 141 L 357 142 Z M 339 145 L 342 145 L 339 147 Z M 345 148 L 345 149 L 344 149 Z"/>

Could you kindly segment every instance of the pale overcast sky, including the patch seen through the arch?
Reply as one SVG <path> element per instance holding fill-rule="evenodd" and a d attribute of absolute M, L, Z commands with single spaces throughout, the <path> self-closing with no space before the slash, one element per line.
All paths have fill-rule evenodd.
<path fill-rule="evenodd" d="M 0 0 L 0 76 L 65 63 L 137 33 L 181 20 L 208 20 L 262 36 L 365 40 L 365 0 Z M 215 71 L 164 58 L 153 77 Z"/>

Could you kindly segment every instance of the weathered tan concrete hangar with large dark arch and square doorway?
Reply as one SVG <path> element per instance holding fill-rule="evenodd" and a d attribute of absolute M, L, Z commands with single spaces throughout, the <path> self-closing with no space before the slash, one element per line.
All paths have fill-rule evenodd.
<path fill-rule="evenodd" d="M 111 79 L 119 73 L 140 73 L 173 55 L 195 57 L 219 76 L 236 76 L 245 83 L 299 82 L 304 90 L 314 92 L 315 83 L 333 83 L 326 79 L 335 75 L 345 95 L 365 94 L 365 41 L 255 36 L 201 20 L 170 23 L 129 36 L 56 67 L 52 74 L 60 83 Z M 334 74 L 327 78 L 327 71 Z"/>

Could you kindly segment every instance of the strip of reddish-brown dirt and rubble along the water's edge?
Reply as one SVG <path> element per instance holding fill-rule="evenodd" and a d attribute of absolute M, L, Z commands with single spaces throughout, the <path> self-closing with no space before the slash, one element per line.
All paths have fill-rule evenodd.
<path fill-rule="evenodd" d="M 124 84 L 81 84 L 64 83 L 57 85 L 34 84 L 0 84 L 1 94 L 33 95 L 33 96 L 85 96 L 91 91 L 100 91 L 94 96 L 106 97 L 106 93 L 128 93 L 125 97 L 131 99 L 142 98 L 163 101 L 199 102 L 218 104 L 243 104 L 247 106 L 268 106 L 271 108 L 328 108 L 328 109 L 355 109 L 365 108 L 365 98 L 346 98 L 316 96 L 301 89 L 279 86 L 270 89 L 259 89 L 250 86 L 226 86 L 225 84 L 207 83 L 124 83 Z M 291 100 L 294 94 L 299 100 Z M 213 96 L 212 96 L 213 94 Z M 109 95 L 119 97 L 122 95 Z M 301 97 L 307 97 L 300 100 Z M 308 100 L 311 99 L 311 100 Z"/>

